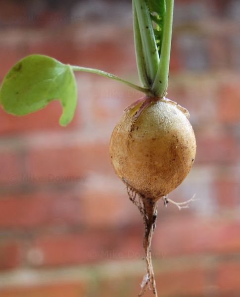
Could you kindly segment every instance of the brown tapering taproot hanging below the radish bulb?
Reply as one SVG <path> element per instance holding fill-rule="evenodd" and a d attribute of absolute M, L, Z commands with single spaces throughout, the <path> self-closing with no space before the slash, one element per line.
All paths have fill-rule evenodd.
<path fill-rule="evenodd" d="M 145 226 L 143 246 L 145 252 L 146 273 L 141 284 L 141 292 L 139 294 L 139 297 L 142 297 L 144 295 L 147 288 L 149 288 L 149 290 L 152 290 L 154 296 L 157 297 L 156 283 L 151 260 L 151 239 L 156 227 L 157 201 L 146 198 L 136 193 L 129 187 L 127 188 L 127 191 L 130 200 L 139 208 L 143 216 Z"/>

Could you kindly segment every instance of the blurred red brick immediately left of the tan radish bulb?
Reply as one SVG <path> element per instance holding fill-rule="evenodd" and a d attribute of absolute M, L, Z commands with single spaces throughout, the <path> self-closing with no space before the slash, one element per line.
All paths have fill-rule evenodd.
<path fill-rule="evenodd" d="M 64 145 L 64 144 L 63 144 Z M 27 155 L 27 174 L 48 180 L 80 177 L 89 172 L 113 174 L 108 144 L 85 142 L 68 148 L 32 149 Z"/>

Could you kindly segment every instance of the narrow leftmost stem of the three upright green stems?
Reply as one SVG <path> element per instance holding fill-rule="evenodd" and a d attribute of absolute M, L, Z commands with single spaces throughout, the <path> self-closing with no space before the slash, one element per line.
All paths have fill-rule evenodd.
<path fill-rule="evenodd" d="M 139 21 L 137 17 L 134 0 L 133 0 L 133 31 L 134 31 L 135 55 L 136 55 L 139 79 L 145 88 L 147 87 L 149 88 L 150 86 L 146 75 L 146 63 L 144 60 L 143 44 L 141 40 Z"/>

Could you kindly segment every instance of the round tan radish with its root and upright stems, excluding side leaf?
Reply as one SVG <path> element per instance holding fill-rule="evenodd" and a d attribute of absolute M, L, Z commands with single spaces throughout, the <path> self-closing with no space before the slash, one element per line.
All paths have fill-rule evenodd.
<path fill-rule="evenodd" d="M 144 219 L 147 272 L 141 285 L 141 297 L 147 286 L 157 296 L 150 252 L 157 201 L 163 198 L 165 205 L 172 202 L 181 209 L 193 200 L 176 203 L 168 199 L 167 194 L 189 173 L 195 159 L 196 141 L 188 120 L 189 112 L 165 98 L 173 0 L 134 0 L 133 10 L 139 76 L 152 95 L 125 109 L 112 132 L 109 149 L 115 172 L 126 184 L 129 198 L 138 206 Z"/>

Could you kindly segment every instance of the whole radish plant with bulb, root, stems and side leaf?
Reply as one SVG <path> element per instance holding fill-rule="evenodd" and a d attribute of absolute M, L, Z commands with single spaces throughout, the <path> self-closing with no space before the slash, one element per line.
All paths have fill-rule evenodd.
<path fill-rule="evenodd" d="M 0 88 L 3 109 L 15 115 L 28 114 L 59 99 L 63 107 L 62 126 L 71 121 L 76 108 L 74 71 L 118 80 L 145 94 L 125 109 L 109 145 L 115 172 L 144 219 L 147 271 L 140 297 L 147 286 L 157 296 L 150 252 L 157 201 L 163 199 L 165 205 L 171 202 L 181 209 L 194 200 L 193 197 L 177 203 L 167 197 L 189 173 L 196 152 L 189 112 L 166 98 L 173 5 L 174 0 L 133 0 L 135 50 L 142 87 L 102 70 L 66 65 L 44 55 L 30 55 L 8 71 Z"/>

